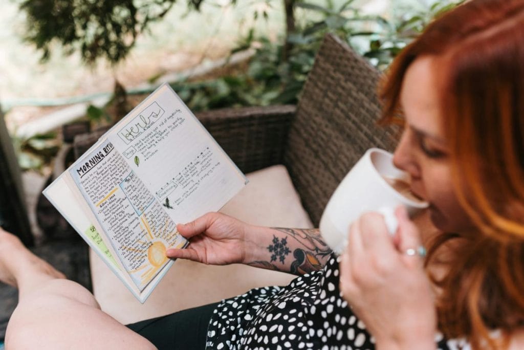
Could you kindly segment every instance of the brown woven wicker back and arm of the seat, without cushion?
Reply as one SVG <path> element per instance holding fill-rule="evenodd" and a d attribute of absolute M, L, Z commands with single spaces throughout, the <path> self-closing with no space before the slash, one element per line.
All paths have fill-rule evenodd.
<path fill-rule="evenodd" d="M 376 125 L 378 79 L 375 68 L 328 34 L 297 106 L 226 108 L 196 116 L 243 172 L 285 165 L 318 226 L 337 184 L 364 151 L 394 148 L 395 130 Z M 75 137 L 75 154 L 100 135 Z"/>

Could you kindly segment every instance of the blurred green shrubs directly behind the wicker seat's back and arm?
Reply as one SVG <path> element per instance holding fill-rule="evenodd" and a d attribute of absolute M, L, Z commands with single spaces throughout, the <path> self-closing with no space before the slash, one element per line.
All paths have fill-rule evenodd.
<path fill-rule="evenodd" d="M 339 7 L 325 1 L 325 6 L 299 2 L 296 10 L 314 12 L 319 19 L 297 24 L 297 31 L 288 36 L 292 43 L 287 59 L 283 59 L 284 43 L 256 37 L 254 29 L 241 38 L 232 53 L 256 48 L 246 71 L 198 83 L 174 83 L 172 87 L 193 111 L 232 106 L 266 106 L 296 103 L 314 55 L 322 38 L 332 32 L 384 70 L 392 59 L 429 22 L 462 1 L 442 0 L 429 8 L 403 10 L 400 16 L 385 18 L 368 16 L 348 0 Z"/>

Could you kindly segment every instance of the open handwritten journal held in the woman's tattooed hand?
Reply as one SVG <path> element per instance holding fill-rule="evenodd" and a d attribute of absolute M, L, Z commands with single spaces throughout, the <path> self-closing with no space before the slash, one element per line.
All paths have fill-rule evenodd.
<path fill-rule="evenodd" d="M 168 84 L 104 134 L 43 194 L 144 302 L 188 245 L 176 228 L 219 210 L 244 174 Z"/>

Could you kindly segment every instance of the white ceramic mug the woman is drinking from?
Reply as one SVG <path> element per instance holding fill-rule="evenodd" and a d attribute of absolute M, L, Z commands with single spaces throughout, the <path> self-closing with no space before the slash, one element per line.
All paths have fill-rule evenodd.
<path fill-rule="evenodd" d="M 347 173 L 324 209 L 320 233 L 325 243 L 340 255 L 351 223 L 365 212 L 383 214 L 388 230 L 395 233 L 394 210 L 397 206 L 405 206 L 410 216 L 428 207 L 427 202 L 409 193 L 409 181 L 409 174 L 393 165 L 391 153 L 378 148 L 368 149 Z M 401 192 L 391 182 L 404 184 Z"/>

